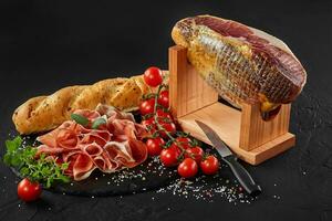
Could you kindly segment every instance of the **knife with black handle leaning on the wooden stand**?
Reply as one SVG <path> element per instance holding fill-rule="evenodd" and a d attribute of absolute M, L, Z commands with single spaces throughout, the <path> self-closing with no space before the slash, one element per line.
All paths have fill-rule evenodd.
<path fill-rule="evenodd" d="M 201 128 L 206 134 L 208 139 L 212 143 L 222 160 L 230 167 L 232 173 L 239 180 L 243 189 L 251 196 L 256 197 L 261 193 L 261 188 L 257 185 L 249 172 L 240 165 L 237 160 L 237 157 L 230 151 L 229 147 L 221 140 L 217 133 L 204 124 L 203 122 L 195 120 L 196 124 Z"/>

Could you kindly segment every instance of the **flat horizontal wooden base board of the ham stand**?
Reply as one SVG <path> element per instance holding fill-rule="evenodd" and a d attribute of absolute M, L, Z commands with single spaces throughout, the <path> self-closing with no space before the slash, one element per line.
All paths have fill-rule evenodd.
<path fill-rule="evenodd" d="M 211 104 L 178 118 L 178 123 L 185 131 L 190 133 L 197 139 L 211 145 L 209 139 L 195 123 L 195 119 L 199 119 L 214 128 L 240 159 L 251 165 L 258 165 L 289 149 L 295 144 L 295 136 L 286 133 L 251 150 L 240 148 L 241 112 L 220 103 Z"/>

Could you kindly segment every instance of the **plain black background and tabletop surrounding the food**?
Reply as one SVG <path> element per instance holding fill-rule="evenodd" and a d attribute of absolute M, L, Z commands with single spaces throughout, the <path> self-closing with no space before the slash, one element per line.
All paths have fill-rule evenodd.
<path fill-rule="evenodd" d="M 297 146 L 258 167 L 246 165 L 263 194 L 234 206 L 170 193 L 153 201 L 155 192 L 100 199 L 44 192 L 25 204 L 0 164 L 0 220 L 332 220 L 331 1 L 1 1 L 1 155 L 22 102 L 65 85 L 141 74 L 149 65 L 167 69 L 174 23 L 205 13 L 282 39 L 308 72 L 292 108 Z"/>

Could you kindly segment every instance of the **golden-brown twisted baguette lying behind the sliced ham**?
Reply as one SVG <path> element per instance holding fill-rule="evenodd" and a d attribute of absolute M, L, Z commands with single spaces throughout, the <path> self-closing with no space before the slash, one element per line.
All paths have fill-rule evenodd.
<path fill-rule="evenodd" d="M 93 85 L 75 85 L 59 90 L 49 96 L 28 99 L 12 116 L 21 135 L 51 130 L 70 119 L 76 109 L 94 109 L 100 103 L 121 110 L 136 109 L 143 94 L 147 93 L 143 77 L 117 77 Z"/>

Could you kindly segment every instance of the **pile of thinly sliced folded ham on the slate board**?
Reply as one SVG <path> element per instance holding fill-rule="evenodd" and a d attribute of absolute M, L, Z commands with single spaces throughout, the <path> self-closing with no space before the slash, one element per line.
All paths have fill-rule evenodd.
<path fill-rule="evenodd" d="M 37 157 L 45 154 L 56 162 L 69 162 L 65 173 L 77 181 L 86 179 L 95 169 L 111 173 L 133 168 L 147 158 L 147 148 L 138 140 L 145 136 L 145 128 L 135 123 L 132 114 L 106 105 L 98 105 L 96 110 L 79 109 L 75 114 L 87 118 L 87 126 L 68 120 L 39 136 Z M 106 124 L 91 128 L 100 117 Z"/>

